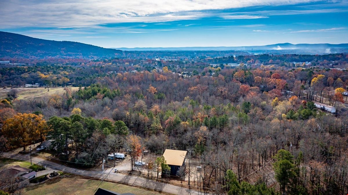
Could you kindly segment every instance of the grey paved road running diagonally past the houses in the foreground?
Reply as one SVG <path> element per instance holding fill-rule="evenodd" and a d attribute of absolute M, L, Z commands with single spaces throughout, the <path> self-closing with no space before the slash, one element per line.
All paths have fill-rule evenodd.
<path fill-rule="evenodd" d="M 23 161 L 29 161 L 30 162 L 30 154 L 14 154 L 14 153 L 4 153 L 4 157 L 16 159 L 16 160 L 23 160 Z M 67 173 L 72 173 L 76 175 L 81 176 L 89 176 L 94 177 L 97 179 L 102 179 L 102 171 L 90 171 L 90 170 L 81 170 L 81 169 L 75 169 L 71 167 L 66 167 L 64 165 L 51 162 L 45 159 L 41 159 L 38 157 L 32 156 L 32 162 L 35 164 L 39 164 L 41 166 L 46 166 L 46 168 L 51 169 L 50 171 L 58 170 L 63 171 Z M 153 189 L 158 192 L 165 192 L 170 194 L 202 194 L 198 193 L 195 190 L 189 190 L 187 188 L 183 188 L 180 186 L 175 186 L 171 184 L 165 184 L 158 181 L 153 181 L 150 179 L 145 179 L 140 176 L 128 176 L 128 175 L 120 175 L 117 173 L 114 173 L 112 169 L 106 169 L 106 172 L 104 173 L 104 180 L 110 180 L 117 183 L 127 184 L 131 186 L 139 186 L 144 187 L 148 189 Z"/>

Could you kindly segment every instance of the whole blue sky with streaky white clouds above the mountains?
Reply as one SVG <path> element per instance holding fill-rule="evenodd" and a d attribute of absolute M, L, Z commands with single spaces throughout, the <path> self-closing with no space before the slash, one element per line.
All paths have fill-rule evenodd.
<path fill-rule="evenodd" d="M 106 48 L 348 43 L 348 1 L 11 0 L 0 31 Z"/>

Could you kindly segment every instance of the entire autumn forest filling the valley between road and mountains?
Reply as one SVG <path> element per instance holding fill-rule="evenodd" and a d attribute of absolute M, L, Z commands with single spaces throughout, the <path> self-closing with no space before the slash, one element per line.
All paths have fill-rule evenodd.
<path fill-rule="evenodd" d="M 233 60 L 247 64 L 251 58 L 347 62 L 342 54 Z M 219 63 L 214 66 L 117 58 L 1 68 L 1 85 L 14 88 L 0 103 L 0 142 L 25 148 L 49 137 L 57 158 L 84 167 L 124 149 L 132 160 L 145 149 L 155 155 L 185 150 L 201 165 L 201 184 L 213 194 L 347 192 L 347 71 L 293 63 L 230 67 L 222 59 L 212 59 Z M 79 89 L 16 98 L 15 87 L 27 83 Z M 156 172 L 156 166 L 147 168 Z"/>

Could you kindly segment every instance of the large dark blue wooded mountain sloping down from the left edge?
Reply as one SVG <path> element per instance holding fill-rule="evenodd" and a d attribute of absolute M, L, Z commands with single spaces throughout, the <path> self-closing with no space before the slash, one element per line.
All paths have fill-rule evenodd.
<path fill-rule="evenodd" d="M 0 31 L 0 58 L 112 58 L 121 50 L 94 45 L 37 39 L 30 36 Z"/>

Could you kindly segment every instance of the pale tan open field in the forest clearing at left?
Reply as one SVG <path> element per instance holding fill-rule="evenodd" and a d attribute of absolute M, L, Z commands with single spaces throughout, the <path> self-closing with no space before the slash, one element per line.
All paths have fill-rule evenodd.
<path fill-rule="evenodd" d="M 42 96 L 51 96 L 55 94 L 63 94 L 65 92 L 64 90 L 65 87 L 54 87 L 54 88 L 49 88 L 49 91 L 45 89 L 45 87 L 38 87 L 38 88 L 13 88 L 14 90 L 18 91 L 17 98 L 18 99 L 26 99 L 28 97 L 42 97 Z M 79 87 L 67 87 L 71 90 L 71 92 L 77 91 Z M 6 88 L 0 89 L 0 98 L 6 98 L 7 93 L 11 91 L 11 88 Z"/>

